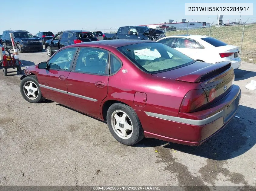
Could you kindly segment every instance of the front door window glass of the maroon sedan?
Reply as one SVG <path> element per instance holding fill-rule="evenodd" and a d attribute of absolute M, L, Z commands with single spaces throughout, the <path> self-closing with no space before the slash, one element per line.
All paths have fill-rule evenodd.
<path fill-rule="evenodd" d="M 76 48 L 68 48 L 56 53 L 48 61 L 48 67 L 51 69 L 70 70 L 75 53 Z"/>

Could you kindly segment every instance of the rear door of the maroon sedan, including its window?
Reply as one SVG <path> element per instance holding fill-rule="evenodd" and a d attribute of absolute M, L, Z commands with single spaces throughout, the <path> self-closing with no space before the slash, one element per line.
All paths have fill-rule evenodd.
<path fill-rule="evenodd" d="M 75 110 L 101 118 L 100 105 L 108 93 L 108 51 L 81 48 L 68 75 L 68 95 Z"/>

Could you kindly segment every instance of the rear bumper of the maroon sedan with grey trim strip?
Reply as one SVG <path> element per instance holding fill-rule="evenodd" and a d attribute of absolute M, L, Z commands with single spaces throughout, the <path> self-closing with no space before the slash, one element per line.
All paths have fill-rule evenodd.
<path fill-rule="evenodd" d="M 137 112 L 145 137 L 198 146 L 223 129 L 235 115 L 241 99 L 239 86 L 203 111 L 190 113 L 190 118 Z M 194 115 L 194 116 L 193 116 Z M 195 120 L 199 119 L 199 120 Z"/>

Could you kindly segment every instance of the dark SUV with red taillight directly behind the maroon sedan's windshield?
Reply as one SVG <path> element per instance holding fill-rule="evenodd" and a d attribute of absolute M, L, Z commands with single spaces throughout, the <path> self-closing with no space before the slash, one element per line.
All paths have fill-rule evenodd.
<path fill-rule="evenodd" d="M 45 50 L 49 57 L 64 46 L 98 40 L 92 32 L 82 30 L 65 30 L 55 34 L 45 42 Z"/>

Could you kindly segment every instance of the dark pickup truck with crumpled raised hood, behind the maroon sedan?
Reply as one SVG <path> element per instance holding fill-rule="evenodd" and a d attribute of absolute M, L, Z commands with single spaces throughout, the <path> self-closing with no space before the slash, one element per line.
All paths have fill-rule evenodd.
<path fill-rule="evenodd" d="M 158 40 L 165 37 L 165 32 L 144 26 L 120 27 L 117 33 L 104 33 L 103 40 L 112 39 L 139 39 L 139 40 Z"/>

